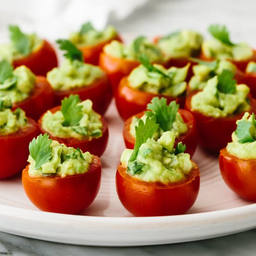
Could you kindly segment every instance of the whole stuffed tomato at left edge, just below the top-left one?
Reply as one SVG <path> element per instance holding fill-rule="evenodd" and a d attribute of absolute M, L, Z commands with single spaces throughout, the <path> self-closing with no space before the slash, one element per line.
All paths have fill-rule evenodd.
<path fill-rule="evenodd" d="M 13 70 L 7 60 L 0 61 L 0 97 L 10 97 L 13 108 L 22 108 L 37 120 L 53 106 L 54 93 L 46 78 L 35 76 L 26 66 Z"/>

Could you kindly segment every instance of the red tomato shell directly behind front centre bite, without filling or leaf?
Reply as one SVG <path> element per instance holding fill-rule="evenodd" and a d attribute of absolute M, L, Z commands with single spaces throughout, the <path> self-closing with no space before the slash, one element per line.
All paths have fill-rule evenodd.
<path fill-rule="evenodd" d="M 177 143 L 182 141 L 182 143 L 186 145 L 185 153 L 188 153 L 192 157 L 195 153 L 197 143 L 195 119 L 188 110 L 179 109 L 178 112 L 182 116 L 184 122 L 188 125 L 188 132 L 175 139 L 175 146 L 177 145 Z M 144 112 L 140 112 L 134 116 L 136 116 L 137 118 L 141 118 L 142 115 L 144 115 Z M 134 149 L 135 145 L 135 137 L 130 134 L 130 124 L 134 116 L 131 116 L 125 121 L 123 128 L 123 138 L 125 145 L 126 148 L 130 149 Z"/>

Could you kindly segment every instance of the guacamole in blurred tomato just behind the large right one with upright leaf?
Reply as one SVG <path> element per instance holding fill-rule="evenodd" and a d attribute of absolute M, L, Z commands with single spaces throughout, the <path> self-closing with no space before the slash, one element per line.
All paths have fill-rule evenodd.
<path fill-rule="evenodd" d="M 224 69 L 230 70 L 233 74 L 236 73 L 236 66 L 230 61 L 220 60 L 216 62 L 216 66 L 209 66 L 198 64 L 192 67 L 194 75 L 189 81 L 191 90 L 202 90 L 205 88 L 207 81 L 215 76 L 221 74 Z"/>

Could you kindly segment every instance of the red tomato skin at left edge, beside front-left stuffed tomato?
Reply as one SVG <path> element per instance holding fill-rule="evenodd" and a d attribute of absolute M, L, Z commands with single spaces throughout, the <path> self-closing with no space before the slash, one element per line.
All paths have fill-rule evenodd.
<path fill-rule="evenodd" d="M 29 127 L 9 135 L 0 135 L 0 179 L 18 174 L 27 165 L 28 145 L 39 135 L 36 122 L 27 119 Z"/>

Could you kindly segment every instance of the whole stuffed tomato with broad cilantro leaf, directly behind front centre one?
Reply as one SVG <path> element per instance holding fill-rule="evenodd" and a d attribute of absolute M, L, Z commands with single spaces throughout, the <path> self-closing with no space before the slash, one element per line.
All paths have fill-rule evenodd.
<path fill-rule="evenodd" d="M 128 118 L 124 123 L 123 137 L 126 148 L 133 149 L 135 145 L 136 132 L 140 120 L 146 121 L 147 116 L 155 116 L 159 127 L 152 138 L 157 141 L 164 132 L 171 131 L 175 135 L 175 144 L 182 142 L 186 144 L 186 153 L 191 157 L 195 153 L 197 135 L 193 115 L 185 109 L 179 109 L 179 104 L 171 101 L 167 105 L 165 98 L 155 97 L 147 106 L 148 111 L 140 112 Z"/>

